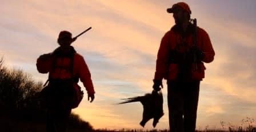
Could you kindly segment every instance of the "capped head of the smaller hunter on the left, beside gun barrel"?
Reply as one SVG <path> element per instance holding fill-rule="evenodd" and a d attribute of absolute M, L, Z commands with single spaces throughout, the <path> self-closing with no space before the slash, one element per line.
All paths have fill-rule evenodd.
<path fill-rule="evenodd" d="M 69 31 L 61 31 L 58 37 L 60 46 L 69 46 L 73 42 L 72 34 Z"/>

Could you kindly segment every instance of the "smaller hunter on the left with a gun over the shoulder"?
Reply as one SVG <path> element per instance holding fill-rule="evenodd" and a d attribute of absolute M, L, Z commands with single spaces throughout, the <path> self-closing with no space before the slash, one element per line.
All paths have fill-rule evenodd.
<path fill-rule="evenodd" d="M 79 87 L 79 78 L 87 90 L 88 100 L 94 100 L 90 71 L 82 55 L 70 46 L 74 41 L 69 31 L 61 31 L 58 37 L 60 46 L 37 59 L 39 73 L 49 73 L 49 84 L 45 90 L 47 131 L 66 131 L 67 119 L 74 105 L 74 88 Z"/>

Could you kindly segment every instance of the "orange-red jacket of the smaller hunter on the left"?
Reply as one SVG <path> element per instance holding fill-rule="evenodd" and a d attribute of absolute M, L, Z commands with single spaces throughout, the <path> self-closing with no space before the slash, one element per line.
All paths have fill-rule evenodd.
<path fill-rule="evenodd" d="M 39 73 L 49 73 L 49 78 L 53 79 L 69 79 L 72 77 L 78 77 L 83 83 L 83 86 L 85 86 L 87 93 L 95 93 L 89 68 L 82 55 L 74 53 L 72 68 L 73 75 L 71 75 L 69 71 L 69 68 L 72 67 L 70 66 L 70 61 L 72 61 L 71 58 L 58 57 L 57 59 L 54 59 L 53 56 L 54 55 L 51 55 L 51 53 L 43 54 L 37 59 L 37 70 Z M 56 67 L 53 67 L 53 63 Z"/>

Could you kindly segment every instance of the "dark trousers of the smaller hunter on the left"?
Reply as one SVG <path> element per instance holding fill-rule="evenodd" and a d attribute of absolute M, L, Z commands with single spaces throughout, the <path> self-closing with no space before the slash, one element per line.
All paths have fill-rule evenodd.
<path fill-rule="evenodd" d="M 49 87 L 50 90 L 47 94 L 47 132 L 65 132 L 71 114 L 73 88 L 66 82 L 50 82 Z"/>

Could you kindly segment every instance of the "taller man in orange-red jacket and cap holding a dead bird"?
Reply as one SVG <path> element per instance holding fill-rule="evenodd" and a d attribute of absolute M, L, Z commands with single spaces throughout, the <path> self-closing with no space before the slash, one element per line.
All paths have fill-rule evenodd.
<path fill-rule="evenodd" d="M 199 83 L 205 77 L 203 62 L 212 62 L 215 53 L 206 31 L 190 22 L 187 3 L 178 2 L 167 12 L 173 13 L 175 25 L 162 38 L 153 88 L 158 91 L 162 79 L 167 79 L 170 131 L 191 132 L 195 131 Z"/>

